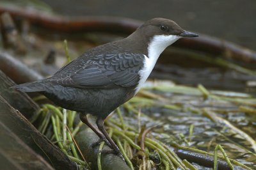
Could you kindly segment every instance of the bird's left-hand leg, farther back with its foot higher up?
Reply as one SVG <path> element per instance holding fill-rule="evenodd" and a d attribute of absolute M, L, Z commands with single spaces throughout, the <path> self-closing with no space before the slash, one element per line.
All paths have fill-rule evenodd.
<path fill-rule="evenodd" d="M 104 141 L 106 144 L 108 144 L 109 147 L 111 147 L 112 145 L 109 143 L 108 139 L 106 139 L 105 135 L 102 134 L 102 132 L 100 132 L 100 130 L 98 130 L 96 127 L 94 127 L 92 125 L 92 123 L 90 123 L 90 121 L 88 121 L 87 115 L 80 113 L 79 114 L 80 120 L 87 125 L 89 128 L 91 128 L 93 130 L 93 132 L 95 132 L 95 134 L 97 134 L 99 136 L 99 140 L 95 141 L 95 143 L 92 143 L 92 148 L 94 146 L 97 146 L 99 143 L 101 143 L 102 141 Z"/>

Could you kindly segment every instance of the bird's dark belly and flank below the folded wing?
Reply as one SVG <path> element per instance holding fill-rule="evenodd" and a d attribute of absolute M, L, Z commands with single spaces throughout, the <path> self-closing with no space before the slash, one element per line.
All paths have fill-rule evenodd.
<path fill-rule="evenodd" d="M 54 90 L 53 90 L 54 89 Z M 119 105 L 134 96 L 134 88 L 82 89 L 54 86 L 42 92 L 47 98 L 65 109 L 90 113 L 106 118 Z"/>

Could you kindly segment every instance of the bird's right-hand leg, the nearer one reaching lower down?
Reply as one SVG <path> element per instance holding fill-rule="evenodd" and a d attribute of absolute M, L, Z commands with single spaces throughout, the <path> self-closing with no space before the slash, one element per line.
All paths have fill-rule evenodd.
<path fill-rule="evenodd" d="M 104 128 L 104 121 L 103 121 L 103 119 L 102 118 L 97 118 L 96 123 L 97 123 L 97 126 L 98 126 L 99 130 L 102 132 L 102 134 L 105 135 L 106 139 L 111 144 L 111 148 L 115 151 L 115 153 L 117 153 L 117 155 L 120 158 L 122 158 L 124 160 L 124 157 L 123 157 L 121 151 L 119 150 L 118 146 L 116 146 L 115 142 L 111 139 L 111 137 L 109 136 L 108 132 Z M 108 151 L 106 151 L 106 153 L 108 153 Z M 111 152 L 109 152 L 109 153 L 111 153 Z"/>

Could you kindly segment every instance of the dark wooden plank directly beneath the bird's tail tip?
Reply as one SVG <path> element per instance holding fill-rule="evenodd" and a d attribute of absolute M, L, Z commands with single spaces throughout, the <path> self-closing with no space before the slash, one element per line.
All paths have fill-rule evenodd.
<path fill-rule="evenodd" d="M 0 95 L 15 109 L 19 110 L 27 119 L 31 118 L 36 112 L 40 111 L 40 107 L 31 100 L 26 93 L 22 93 L 15 89 L 13 82 L 0 70 Z"/>

